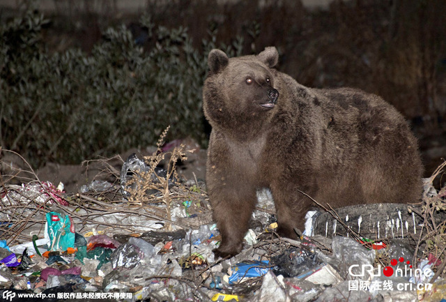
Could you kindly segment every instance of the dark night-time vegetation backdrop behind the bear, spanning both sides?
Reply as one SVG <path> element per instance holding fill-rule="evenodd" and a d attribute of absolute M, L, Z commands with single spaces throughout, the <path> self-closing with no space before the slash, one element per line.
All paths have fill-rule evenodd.
<path fill-rule="evenodd" d="M 1 146 L 35 167 L 193 137 L 206 146 L 201 110 L 206 56 L 275 45 L 279 70 L 306 86 L 353 86 L 402 112 L 426 175 L 446 156 L 446 4 L 443 0 L 54 1 L 42 14 L 0 8 Z"/>

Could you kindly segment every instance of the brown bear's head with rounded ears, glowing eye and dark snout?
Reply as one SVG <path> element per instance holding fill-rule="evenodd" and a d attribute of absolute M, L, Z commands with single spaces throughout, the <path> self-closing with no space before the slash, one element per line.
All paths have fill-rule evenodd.
<path fill-rule="evenodd" d="M 279 98 L 272 69 L 278 59 L 275 47 L 266 47 L 256 56 L 231 59 L 221 50 L 212 50 L 203 86 L 203 110 L 211 126 L 261 126 L 272 115 Z"/>

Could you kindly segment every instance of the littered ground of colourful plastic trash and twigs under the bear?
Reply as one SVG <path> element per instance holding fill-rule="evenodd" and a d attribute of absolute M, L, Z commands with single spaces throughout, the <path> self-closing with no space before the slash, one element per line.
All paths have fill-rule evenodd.
<path fill-rule="evenodd" d="M 160 169 L 162 159 L 130 156 L 116 183 L 92 181 L 72 196 L 63 184 L 3 186 L 2 301 L 446 299 L 445 222 L 428 220 L 445 210 L 444 188 L 415 213 L 417 234 L 364 238 L 346 226 L 346 236 L 299 241 L 277 236 L 272 197 L 260 190 L 243 252 L 215 259 L 205 184 Z"/>

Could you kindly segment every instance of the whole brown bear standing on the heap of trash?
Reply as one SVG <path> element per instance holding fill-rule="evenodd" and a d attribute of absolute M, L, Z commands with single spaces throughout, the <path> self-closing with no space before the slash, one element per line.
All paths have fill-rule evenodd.
<path fill-rule="evenodd" d="M 311 89 L 279 73 L 275 47 L 229 59 L 208 56 L 203 110 L 212 131 L 206 183 L 222 234 L 215 255 L 238 254 L 269 188 L 278 233 L 296 238 L 312 200 L 334 208 L 417 202 L 422 163 L 403 116 L 357 89 Z"/>

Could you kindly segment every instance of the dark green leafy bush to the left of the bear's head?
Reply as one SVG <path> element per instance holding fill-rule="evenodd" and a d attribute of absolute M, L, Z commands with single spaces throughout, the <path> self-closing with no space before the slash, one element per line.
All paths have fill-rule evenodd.
<path fill-rule="evenodd" d="M 206 144 L 201 86 L 215 38 L 192 46 L 187 29 L 141 17 L 152 47 L 144 51 L 124 26 L 109 28 L 91 54 L 49 54 L 46 21 L 27 11 L 0 28 L 1 146 L 28 158 L 79 163 L 131 147 L 194 137 Z M 229 53 L 240 54 L 238 40 Z"/>

